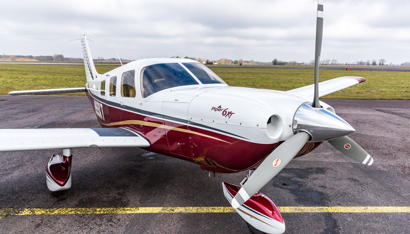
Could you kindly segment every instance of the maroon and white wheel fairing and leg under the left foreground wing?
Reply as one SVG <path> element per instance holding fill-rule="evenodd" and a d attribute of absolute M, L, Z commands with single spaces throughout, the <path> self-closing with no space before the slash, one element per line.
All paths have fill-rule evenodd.
<path fill-rule="evenodd" d="M 62 154 L 53 154 L 47 163 L 46 181 L 52 196 L 59 196 L 71 188 L 71 149 L 64 149 Z"/>

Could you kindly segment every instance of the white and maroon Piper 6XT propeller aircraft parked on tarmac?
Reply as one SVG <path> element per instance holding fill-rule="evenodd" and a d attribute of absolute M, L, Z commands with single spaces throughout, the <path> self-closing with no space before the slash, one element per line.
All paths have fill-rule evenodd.
<path fill-rule="evenodd" d="M 101 128 L 0 129 L 0 151 L 62 149 L 52 154 L 46 182 L 53 195 L 71 187 L 71 150 L 139 147 L 215 173 L 246 171 L 223 193 L 253 233 L 283 233 L 275 204 L 259 190 L 294 157 L 323 141 L 362 164 L 373 159 L 348 134 L 355 131 L 319 97 L 364 81 L 346 76 L 319 83 L 323 0 L 316 25 L 314 84 L 289 91 L 228 86 L 190 59 L 141 59 L 98 74 L 81 37 L 84 88 L 13 91 L 10 95 L 85 92 Z"/>

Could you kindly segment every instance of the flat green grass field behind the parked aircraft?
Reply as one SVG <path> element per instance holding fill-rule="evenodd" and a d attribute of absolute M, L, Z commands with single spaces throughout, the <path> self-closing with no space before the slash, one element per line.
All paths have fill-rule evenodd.
<path fill-rule="evenodd" d="M 115 66 L 97 66 L 105 73 Z M 290 68 L 212 68 L 227 84 L 287 91 L 313 83 L 313 69 Z M 410 100 L 410 72 L 320 70 L 319 81 L 354 75 L 366 81 L 323 99 L 401 99 Z M 0 64 L 0 95 L 10 91 L 83 87 L 84 66 Z M 72 93 L 65 95 L 84 95 Z"/>

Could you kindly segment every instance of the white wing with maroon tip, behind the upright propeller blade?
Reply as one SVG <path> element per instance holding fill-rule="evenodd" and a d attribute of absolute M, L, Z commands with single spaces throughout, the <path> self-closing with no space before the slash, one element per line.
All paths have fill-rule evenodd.
<path fill-rule="evenodd" d="M 336 91 L 346 89 L 347 87 L 359 84 L 360 82 L 365 81 L 363 77 L 358 76 L 344 76 L 335 78 L 332 80 L 326 80 L 319 83 L 319 97 L 334 93 Z M 297 89 L 292 89 L 287 91 L 289 93 L 296 93 L 305 95 L 307 97 L 313 98 L 314 95 L 314 84 L 303 86 Z"/>

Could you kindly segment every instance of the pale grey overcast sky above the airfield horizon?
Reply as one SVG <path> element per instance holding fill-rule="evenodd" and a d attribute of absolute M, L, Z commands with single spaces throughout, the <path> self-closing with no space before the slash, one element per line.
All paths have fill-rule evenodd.
<path fill-rule="evenodd" d="M 410 1 L 323 0 L 321 59 L 410 61 Z M 314 59 L 317 0 L 1 1 L 0 54 Z"/>

